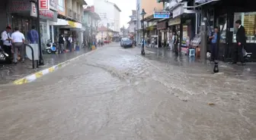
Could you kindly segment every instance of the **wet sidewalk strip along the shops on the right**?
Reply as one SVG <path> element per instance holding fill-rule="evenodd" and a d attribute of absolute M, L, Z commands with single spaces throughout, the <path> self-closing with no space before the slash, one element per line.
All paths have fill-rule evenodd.
<path fill-rule="evenodd" d="M 213 65 L 210 61 L 200 61 L 197 58 L 190 58 L 185 54 L 181 54 L 178 57 L 174 52 L 167 48 L 146 48 L 148 54 L 146 58 L 149 60 L 160 61 L 162 63 L 168 63 L 180 67 L 197 67 L 198 69 L 205 69 L 210 73 L 213 73 Z M 219 73 L 225 73 L 230 76 L 240 76 L 243 79 L 252 78 L 256 79 L 256 63 L 247 63 L 245 66 L 239 64 L 230 64 L 223 61 L 219 61 Z"/>

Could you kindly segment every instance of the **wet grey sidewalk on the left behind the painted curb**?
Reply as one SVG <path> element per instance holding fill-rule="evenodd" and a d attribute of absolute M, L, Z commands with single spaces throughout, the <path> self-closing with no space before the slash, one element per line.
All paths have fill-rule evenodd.
<path fill-rule="evenodd" d="M 80 51 L 66 52 L 64 54 L 43 54 L 44 65 L 35 69 L 32 69 L 32 62 L 30 60 L 26 60 L 24 64 L 0 64 L 0 84 L 13 82 L 15 79 L 20 79 L 31 73 L 68 61 L 69 59 L 85 54 L 88 51 L 91 50 L 88 48 L 82 48 Z"/>

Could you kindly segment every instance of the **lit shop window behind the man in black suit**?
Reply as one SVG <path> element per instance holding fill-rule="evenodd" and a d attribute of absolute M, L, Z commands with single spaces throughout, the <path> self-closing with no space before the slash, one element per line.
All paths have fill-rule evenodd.
<path fill-rule="evenodd" d="M 235 13 L 234 27 L 236 20 L 242 20 L 242 25 L 245 26 L 246 42 L 256 43 L 256 12 Z M 237 29 L 234 29 L 233 42 L 236 42 L 236 33 Z"/>

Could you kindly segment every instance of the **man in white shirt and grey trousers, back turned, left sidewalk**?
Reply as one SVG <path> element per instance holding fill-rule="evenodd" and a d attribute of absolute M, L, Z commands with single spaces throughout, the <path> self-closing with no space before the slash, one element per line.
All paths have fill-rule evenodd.
<path fill-rule="evenodd" d="M 14 28 L 14 33 L 11 34 L 12 45 L 14 48 L 14 64 L 17 64 L 18 51 L 21 54 L 21 61 L 24 62 L 24 42 L 25 36 L 19 31 L 19 27 Z"/>

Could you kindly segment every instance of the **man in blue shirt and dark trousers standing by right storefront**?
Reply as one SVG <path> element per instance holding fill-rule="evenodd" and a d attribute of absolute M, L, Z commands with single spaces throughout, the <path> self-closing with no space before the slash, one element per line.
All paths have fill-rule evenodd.
<path fill-rule="evenodd" d="M 210 36 L 209 39 L 211 39 L 211 60 L 210 61 L 218 61 L 218 52 L 219 52 L 219 48 L 217 45 L 217 41 L 218 41 L 218 33 L 219 33 L 219 29 L 218 27 L 214 28 L 214 33 L 213 36 Z"/>

